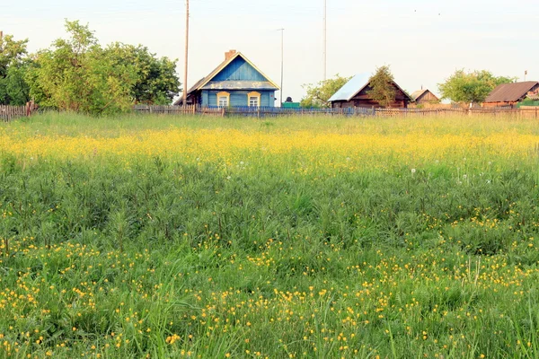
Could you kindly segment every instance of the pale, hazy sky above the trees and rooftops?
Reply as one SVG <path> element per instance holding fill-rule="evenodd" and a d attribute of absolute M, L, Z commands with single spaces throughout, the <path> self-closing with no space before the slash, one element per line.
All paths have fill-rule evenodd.
<path fill-rule="evenodd" d="M 88 23 L 102 45 L 142 44 L 178 59 L 183 79 L 185 0 L 0 0 L 0 30 L 29 39 L 30 51 L 66 37 L 65 19 Z M 539 1 L 327 0 L 327 74 L 373 74 L 391 66 L 395 81 L 435 93 L 457 69 L 539 80 Z M 190 0 L 188 87 L 236 49 L 299 101 L 323 79 L 323 0 Z M 278 97 L 278 93 L 276 95 Z"/>

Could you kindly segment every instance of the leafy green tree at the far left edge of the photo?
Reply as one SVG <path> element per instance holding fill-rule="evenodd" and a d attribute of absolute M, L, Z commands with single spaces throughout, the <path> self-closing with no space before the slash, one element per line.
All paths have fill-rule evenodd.
<path fill-rule="evenodd" d="M 12 35 L 0 39 L 0 104 L 23 105 L 30 101 L 24 74 L 30 65 L 28 39 L 14 40 Z"/>

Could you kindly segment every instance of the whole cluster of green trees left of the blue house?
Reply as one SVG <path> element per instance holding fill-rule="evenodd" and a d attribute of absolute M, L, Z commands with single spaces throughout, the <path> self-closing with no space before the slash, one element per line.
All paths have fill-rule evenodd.
<path fill-rule="evenodd" d="M 181 92 L 176 60 L 142 45 L 102 47 L 88 25 L 66 21 L 67 39 L 30 54 L 28 39 L 0 39 L 0 105 L 110 114 L 136 103 L 169 104 Z"/>

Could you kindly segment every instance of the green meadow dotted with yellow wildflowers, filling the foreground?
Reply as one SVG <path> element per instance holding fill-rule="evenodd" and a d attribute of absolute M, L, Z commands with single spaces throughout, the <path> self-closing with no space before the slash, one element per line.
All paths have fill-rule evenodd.
<path fill-rule="evenodd" d="M 539 126 L 0 124 L 0 358 L 539 357 Z"/>

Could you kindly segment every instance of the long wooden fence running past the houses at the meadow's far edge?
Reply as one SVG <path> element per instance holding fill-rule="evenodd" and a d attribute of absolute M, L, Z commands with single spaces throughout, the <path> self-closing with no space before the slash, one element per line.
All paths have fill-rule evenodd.
<path fill-rule="evenodd" d="M 138 113 L 164 115 L 203 115 L 212 117 L 249 117 L 277 118 L 286 116 L 341 116 L 341 117 L 448 117 L 470 116 L 482 118 L 528 118 L 539 119 L 539 108 L 520 109 L 372 109 L 372 108 L 340 108 L 340 109 L 283 109 L 279 107 L 200 107 L 200 106 L 136 106 Z"/>

